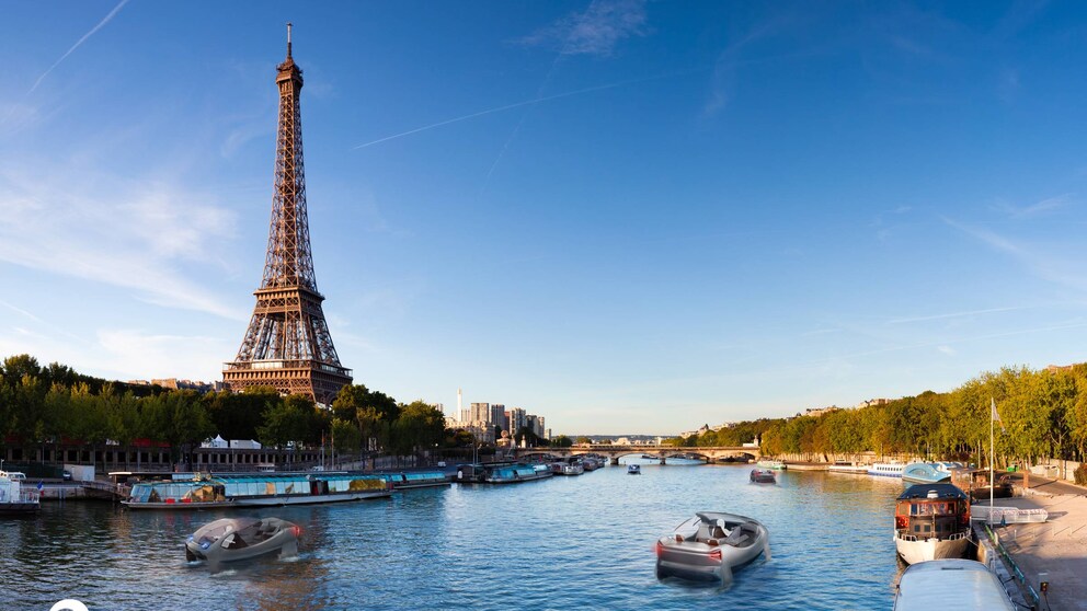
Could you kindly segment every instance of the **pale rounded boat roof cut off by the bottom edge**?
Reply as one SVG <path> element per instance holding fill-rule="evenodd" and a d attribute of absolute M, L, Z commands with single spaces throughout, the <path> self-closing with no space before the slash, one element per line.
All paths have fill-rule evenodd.
<path fill-rule="evenodd" d="M 907 567 L 899 579 L 893 611 L 1015 608 L 1000 578 L 988 567 L 977 561 L 949 558 Z"/>

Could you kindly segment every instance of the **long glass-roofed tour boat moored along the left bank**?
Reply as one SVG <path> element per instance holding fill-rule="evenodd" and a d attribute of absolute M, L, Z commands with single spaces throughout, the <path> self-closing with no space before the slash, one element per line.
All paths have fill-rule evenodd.
<path fill-rule="evenodd" d="M 179 475 L 137 482 L 122 504 L 129 509 L 208 509 L 337 503 L 392 494 L 385 476 L 347 472 Z"/>

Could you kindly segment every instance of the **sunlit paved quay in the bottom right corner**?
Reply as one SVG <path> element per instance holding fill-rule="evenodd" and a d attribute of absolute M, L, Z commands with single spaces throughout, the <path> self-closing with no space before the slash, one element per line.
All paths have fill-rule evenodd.
<path fill-rule="evenodd" d="M 1022 481 L 1017 482 L 1019 486 Z M 1022 489 L 1022 488 L 1020 488 Z M 1041 609 L 1087 611 L 1087 488 L 1031 474 L 1025 496 L 1002 498 L 997 505 L 1045 509 L 1043 523 L 995 526 L 993 530 L 1027 583 L 1039 592 Z M 983 503 L 984 505 L 984 503 Z M 1042 595 L 1041 581 L 1049 583 Z"/>

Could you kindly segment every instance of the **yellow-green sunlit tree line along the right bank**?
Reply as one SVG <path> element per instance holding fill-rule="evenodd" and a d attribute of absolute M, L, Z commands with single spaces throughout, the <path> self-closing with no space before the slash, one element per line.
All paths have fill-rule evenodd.
<path fill-rule="evenodd" d="M 682 447 L 760 440 L 764 454 L 912 454 L 986 464 L 996 403 L 994 456 L 1000 464 L 1087 457 L 1087 364 L 1031 370 L 1005 367 L 946 393 L 923 392 L 884 405 L 739 423 L 672 440 Z"/>

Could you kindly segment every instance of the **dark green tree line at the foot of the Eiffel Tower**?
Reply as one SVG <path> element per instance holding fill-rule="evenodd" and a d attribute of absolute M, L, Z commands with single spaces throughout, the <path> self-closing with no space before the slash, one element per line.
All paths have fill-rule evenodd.
<path fill-rule="evenodd" d="M 271 388 L 201 394 L 107 382 L 56 362 L 43 367 L 30 355 L 8 357 L 0 366 L 0 443 L 110 440 L 131 448 L 147 439 L 168 443 L 176 460 L 217 434 L 278 448 L 334 440 L 337 451 L 394 456 L 473 441 L 470 433 L 447 430 L 433 405 L 399 403 L 362 384 L 341 389 L 324 410 L 306 395 L 282 396 Z"/>

